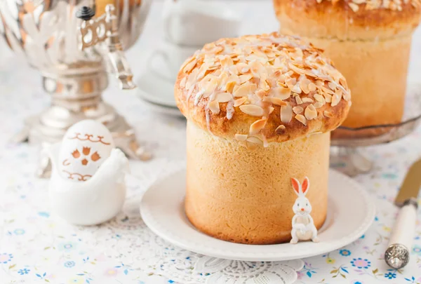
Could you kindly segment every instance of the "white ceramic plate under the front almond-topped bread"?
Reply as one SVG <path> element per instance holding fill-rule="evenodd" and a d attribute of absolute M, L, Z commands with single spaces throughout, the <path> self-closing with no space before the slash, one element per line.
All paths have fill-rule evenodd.
<path fill-rule="evenodd" d="M 196 230 L 185 215 L 185 169 L 152 185 L 140 203 L 149 229 L 180 248 L 224 259 L 281 261 L 321 255 L 361 237 L 375 217 L 375 205 L 351 178 L 329 172 L 328 217 L 319 230 L 320 243 L 243 245 L 210 237 Z M 292 208 L 291 208 L 292 210 Z"/>

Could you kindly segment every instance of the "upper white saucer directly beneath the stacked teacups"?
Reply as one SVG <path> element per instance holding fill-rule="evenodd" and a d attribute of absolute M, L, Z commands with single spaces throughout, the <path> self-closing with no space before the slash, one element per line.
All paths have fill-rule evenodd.
<path fill-rule="evenodd" d="M 137 81 L 138 96 L 154 104 L 177 107 L 174 99 L 174 83 L 164 79 L 156 72 L 147 72 Z"/>

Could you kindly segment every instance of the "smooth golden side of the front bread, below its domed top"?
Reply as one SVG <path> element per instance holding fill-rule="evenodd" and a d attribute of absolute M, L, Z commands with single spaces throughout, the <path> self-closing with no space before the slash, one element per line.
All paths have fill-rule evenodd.
<path fill-rule="evenodd" d="M 311 183 L 306 198 L 319 228 L 328 208 L 330 133 L 250 150 L 187 121 L 185 212 L 199 230 L 236 243 L 290 240 L 291 177 Z"/>

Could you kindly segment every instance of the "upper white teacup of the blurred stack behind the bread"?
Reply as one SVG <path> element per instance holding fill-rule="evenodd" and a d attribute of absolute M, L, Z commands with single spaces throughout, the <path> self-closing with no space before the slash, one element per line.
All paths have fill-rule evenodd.
<path fill-rule="evenodd" d="M 206 0 L 166 0 L 166 40 L 182 46 L 203 46 L 223 37 L 239 36 L 241 18 L 225 4 Z"/>

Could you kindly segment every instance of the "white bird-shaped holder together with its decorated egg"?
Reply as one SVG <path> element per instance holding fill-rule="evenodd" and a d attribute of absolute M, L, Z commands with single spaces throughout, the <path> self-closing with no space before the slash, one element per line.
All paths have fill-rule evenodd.
<path fill-rule="evenodd" d="M 114 148 L 109 130 L 84 120 L 46 149 L 51 158 L 51 208 L 67 222 L 94 225 L 114 217 L 126 198 L 128 159 Z"/>

